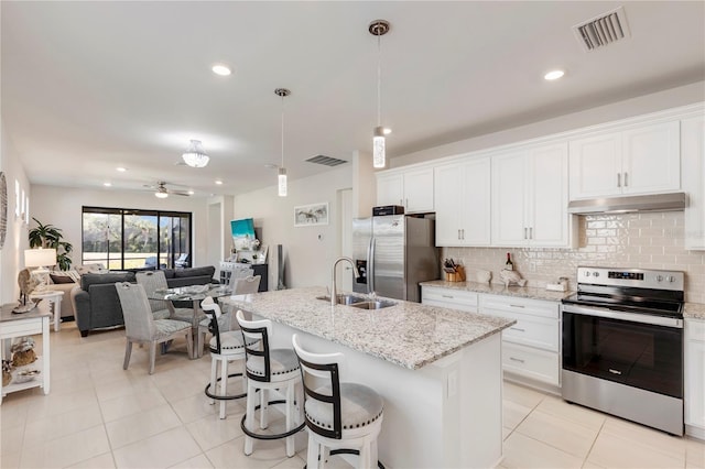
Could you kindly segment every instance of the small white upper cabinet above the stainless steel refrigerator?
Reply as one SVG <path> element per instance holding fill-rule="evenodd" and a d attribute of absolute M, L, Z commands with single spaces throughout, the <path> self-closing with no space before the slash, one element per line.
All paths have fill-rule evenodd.
<path fill-rule="evenodd" d="M 401 205 L 406 214 L 433 211 L 433 167 L 378 175 L 377 205 Z"/>

